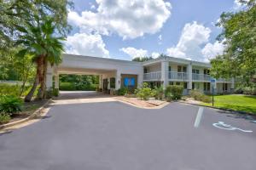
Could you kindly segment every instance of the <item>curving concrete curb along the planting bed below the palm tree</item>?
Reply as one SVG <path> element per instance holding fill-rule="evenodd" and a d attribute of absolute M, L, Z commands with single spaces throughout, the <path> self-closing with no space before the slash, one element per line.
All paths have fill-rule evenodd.
<path fill-rule="evenodd" d="M 13 126 L 15 126 L 15 125 L 19 125 L 19 124 L 21 124 L 21 123 L 24 123 L 24 122 L 27 122 L 27 121 L 31 120 L 31 119 L 34 118 L 35 116 L 38 116 L 38 113 L 40 114 L 40 112 L 44 109 L 44 107 L 45 107 L 46 105 L 49 104 L 50 101 L 51 101 L 51 99 L 49 99 L 48 101 L 46 101 L 45 104 L 42 105 L 40 108 L 38 108 L 37 111 L 34 111 L 31 116 L 28 116 L 28 117 L 26 117 L 26 118 L 24 118 L 24 119 L 21 119 L 21 120 L 19 120 L 19 121 L 16 121 L 16 122 L 9 122 L 9 123 L 7 123 L 7 124 L 0 125 L 0 130 L 3 130 L 4 128 L 7 128 L 7 127 L 13 127 Z"/>

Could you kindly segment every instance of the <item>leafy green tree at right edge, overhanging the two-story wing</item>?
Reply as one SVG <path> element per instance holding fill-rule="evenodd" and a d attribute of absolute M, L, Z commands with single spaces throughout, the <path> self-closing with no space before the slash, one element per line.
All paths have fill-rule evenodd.
<path fill-rule="evenodd" d="M 224 42 L 223 55 L 211 60 L 213 77 L 240 77 L 246 86 L 255 86 L 256 0 L 241 1 L 245 7 L 236 13 L 223 13 L 218 40 Z"/>

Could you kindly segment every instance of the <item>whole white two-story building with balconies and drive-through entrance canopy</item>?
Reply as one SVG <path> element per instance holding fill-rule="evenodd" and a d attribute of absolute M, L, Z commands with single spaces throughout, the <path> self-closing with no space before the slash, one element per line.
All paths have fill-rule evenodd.
<path fill-rule="evenodd" d="M 181 85 L 183 94 L 191 89 L 198 89 L 205 94 L 212 93 L 211 65 L 188 59 L 160 57 L 145 62 L 127 61 L 121 59 L 106 59 L 98 57 L 63 54 L 61 65 L 48 68 L 47 88 L 52 87 L 55 77 L 55 88 L 59 88 L 60 74 L 98 75 L 99 88 L 109 92 L 121 87 L 137 88 L 142 82 L 148 82 L 152 87 L 163 85 Z M 217 80 L 216 93 L 232 93 L 235 87 L 234 79 Z"/>

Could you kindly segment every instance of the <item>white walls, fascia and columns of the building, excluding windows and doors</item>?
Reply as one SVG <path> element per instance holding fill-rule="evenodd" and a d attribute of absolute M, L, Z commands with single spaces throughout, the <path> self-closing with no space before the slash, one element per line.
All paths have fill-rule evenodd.
<path fill-rule="evenodd" d="M 137 75 L 137 83 L 140 85 L 143 82 L 143 68 L 147 68 L 150 72 L 161 72 L 161 77 L 158 81 L 163 82 L 164 88 L 169 84 L 169 65 L 172 71 L 177 72 L 177 65 L 187 67 L 187 82 L 188 89 L 192 88 L 192 69 L 199 70 L 200 74 L 204 73 L 204 69 L 209 69 L 211 65 L 188 59 L 177 59 L 172 57 L 152 59 L 143 63 L 125 61 L 119 59 L 105 59 L 96 57 L 87 57 L 73 54 L 63 54 L 61 65 L 56 68 L 49 67 L 47 71 L 47 88 L 52 87 L 52 76 L 55 75 L 55 88 L 58 88 L 59 74 L 87 74 L 99 75 L 99 86 L 102 88 L 102 80 L 108 78 L 108 89 L 110 88 L 110 78 L 115 77 L 115 89 L 119 89 L 121 85 L 121 74 Z M 155 75 L 155 74 L 154 74 Z M 154 80 L 155 81 L 155 80 Z M 178 82 L 173 80 L 173 82 Z M 183 81 L 179 81 L 183 82 Z M 202 81 L 195 82 L 195 88 L 203 92 L 204 83 Z M 218 93 L 222 93 L 222 83 L 218 83 Z M 230 88 L 234 88 L 234 82 L 228 84 L 228 92 Z"/>

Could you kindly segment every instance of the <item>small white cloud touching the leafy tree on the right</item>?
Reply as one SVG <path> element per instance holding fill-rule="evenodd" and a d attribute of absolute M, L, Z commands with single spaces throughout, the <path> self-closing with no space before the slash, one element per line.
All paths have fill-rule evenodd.
<path fill-rule="evenodd" d="M 223 52 L 224 52 L 223 42 L 214 42 L 213 44 L 208 42 L 207 45 L 201 50 L 201 53 L 204 55 L 205 59 L 207 60 L 213 59 L 217 55 L 223 54 Z"/>

